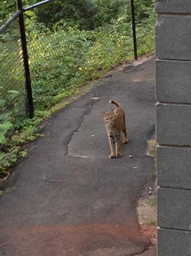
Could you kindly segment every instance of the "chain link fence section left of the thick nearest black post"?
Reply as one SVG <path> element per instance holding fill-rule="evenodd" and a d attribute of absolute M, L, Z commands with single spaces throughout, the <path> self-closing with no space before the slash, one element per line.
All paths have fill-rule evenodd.
<path fill-rule="evenodd" d="M 19 126 L 27 117 L 26 91 L 18 20 L 0 33 L 0 124 Z"/>

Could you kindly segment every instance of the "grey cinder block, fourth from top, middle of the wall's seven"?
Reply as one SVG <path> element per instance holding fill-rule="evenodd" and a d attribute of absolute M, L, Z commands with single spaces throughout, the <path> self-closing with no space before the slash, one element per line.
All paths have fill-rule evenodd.
<path fill-rule="evenodd" d="M 156 104 L 159 144 L 191 146 L 191 105 Z"/>

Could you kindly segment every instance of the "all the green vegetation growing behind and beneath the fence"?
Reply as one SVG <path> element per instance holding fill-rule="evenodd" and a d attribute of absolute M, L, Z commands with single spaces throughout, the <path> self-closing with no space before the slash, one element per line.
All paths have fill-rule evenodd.
<path fill-rule="evenodd" d="M 23 0 L 23 5 L 36 2 Z M 154 50 L 154 0 L 134 0 L 134 4 L 141 55 Z M 16 1 L 3 0 L 0 22 L 15 10 Z M 22 50 L 18 21 L 14 21 L 0 34 L 0 123 L 16 127 L 12 138 L 3 140 L 3 175 L 18 155 L 26 157 L 20 144 L 39 136 L 36 126 L 50 115 L 52 106 L 102 76 L 103 71 L 133 58 L 130 1 L 55 0 L 25 12 L 24 18 L 36 117 L 25 120 Z M 7 130 L 3 132 L 6 135 Z"/>

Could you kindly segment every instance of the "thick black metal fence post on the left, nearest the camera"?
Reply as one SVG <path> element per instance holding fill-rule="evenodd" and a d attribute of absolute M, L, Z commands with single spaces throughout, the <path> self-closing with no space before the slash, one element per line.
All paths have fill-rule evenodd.
<path fill-rule="evenodd" d="M 23 15 L 23 3 L 22 0 L 16 0 L 18 10 L 21 11 L 19 15 L 19 27 L 21 34 L 21 44 L 23 49 L 23 61 L 24 61 L 24 73 L 25 73 L 25 84 L 28 98 L 28 108 L 29 108 L 29 117 L 34 117 L 34 106 L 32 99 L 32 88 L 31 88 L 31 76 L 29 70 L 29 57 L 27 51 L 27 43 L 26 43 L 26 34 L 25 34 L 25 26 L 24 26 L 24 15 Z"/>

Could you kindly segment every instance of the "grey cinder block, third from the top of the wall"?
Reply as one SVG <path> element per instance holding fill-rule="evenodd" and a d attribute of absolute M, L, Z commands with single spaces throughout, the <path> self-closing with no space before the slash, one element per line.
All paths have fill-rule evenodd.
<path fill-rule="evenodd" d="M 191 61 L 158 60 L 155 68 L 157 101 L 191 103 Z"/>

